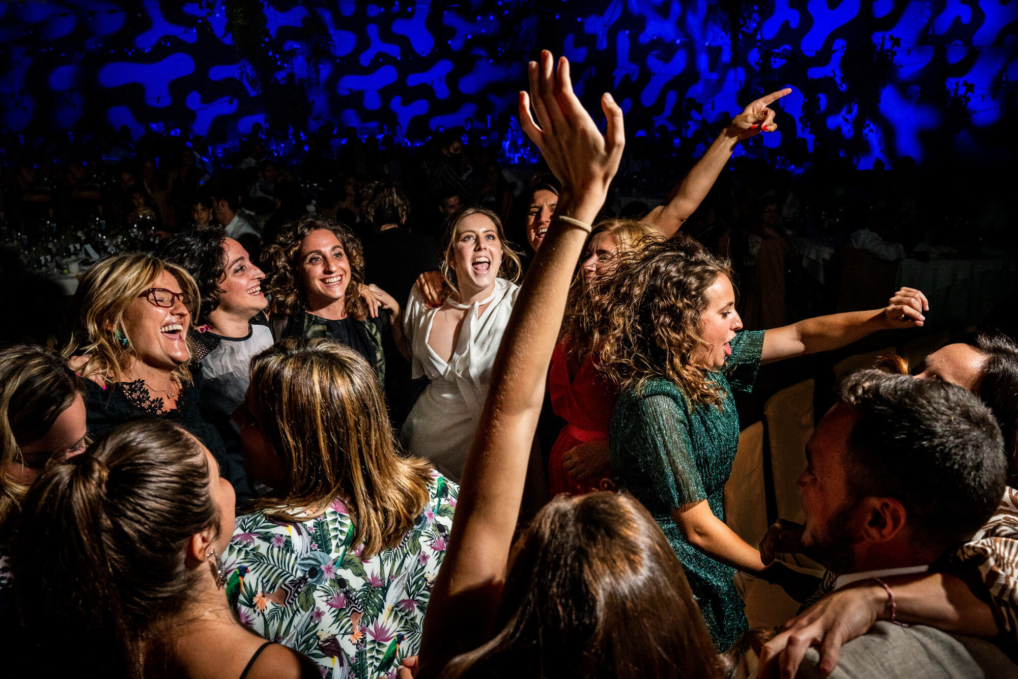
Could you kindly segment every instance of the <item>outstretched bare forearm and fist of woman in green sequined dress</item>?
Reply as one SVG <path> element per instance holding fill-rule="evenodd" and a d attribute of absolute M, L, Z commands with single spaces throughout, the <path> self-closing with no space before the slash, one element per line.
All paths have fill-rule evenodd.
<path fill-rule="evenodd" d="M 885 308 L 818 316 L 764 333 L 762 362 L 847 346 L 878 330 L 921 328 L 926 296 L 913 288 L 894 293 Z"/>

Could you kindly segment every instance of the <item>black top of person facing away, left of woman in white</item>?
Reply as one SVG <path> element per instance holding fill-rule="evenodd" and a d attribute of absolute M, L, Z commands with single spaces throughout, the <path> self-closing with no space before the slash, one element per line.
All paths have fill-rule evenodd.
<path fill-rule="evenodd" d="M 364 280 L 406 306 L 417 276 L 439 268 L 442 256 L 433 238 L 403 228 L 386 229 L 363 239 Z"/>

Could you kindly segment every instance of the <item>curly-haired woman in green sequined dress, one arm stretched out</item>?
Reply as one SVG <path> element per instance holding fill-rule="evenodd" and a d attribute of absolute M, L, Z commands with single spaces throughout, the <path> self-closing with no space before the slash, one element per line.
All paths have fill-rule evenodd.
<path fill-rule="evenodd" d="M 601 304 L 588 309 L 599 365 L 620 392 L 609 441 L 616 483 L 668 537 L 719 650 L 748 628 L 735 570 L 767 575 L 757 549 L 724 523 L 739 443 L 733 390 L 751 390 L 761 362 L 921 326 L 925 303 L 902 288 L 887 308 L 740 332 L 730 279 L 728 263 L 695 242 L 652 244 L 600 283 Z"/>

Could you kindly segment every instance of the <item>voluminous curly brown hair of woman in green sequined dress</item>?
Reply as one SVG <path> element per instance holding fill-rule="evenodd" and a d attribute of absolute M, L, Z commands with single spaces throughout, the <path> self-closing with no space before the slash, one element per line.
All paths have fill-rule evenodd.
<path fill-rule="evenodd" d="M 571 355 L 591 353 L 605 380 L 619 391 L 641 389 L 663 378 L 679 385 L 693 403 L 721 405 L 724 392 L 706 367 L 689 357 L 708 347 L 699 332 L 718 276 L 732 278 L 727 260 L 689 237 L 643 243 L 621 254 L 611 274 L 580 295 L 563 340 Z"/>

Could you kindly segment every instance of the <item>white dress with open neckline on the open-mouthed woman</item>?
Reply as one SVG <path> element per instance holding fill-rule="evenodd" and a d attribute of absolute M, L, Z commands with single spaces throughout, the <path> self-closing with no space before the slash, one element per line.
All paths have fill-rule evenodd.
<path fill-rule="evenodd" d="M 469 308 L 449 362 L 428 345 L 432 322 L 439 309 L 425 302 L 416 286 L 406 302 L 403 332 L 413 354 L 412 376 L 417 379 L 427 375 L 431 384 L 413 404 L 399 439 L 407 452 L 427 458 L 442 475 L 457 484 L 480 421 L 492 381 L 492 364 L 517 294 L 518 285 L 498 278 L 487 299 L 469 307 L 446 302 Z M 477 307 L 485 304 L 488 308 L 478 318 Z"/>

